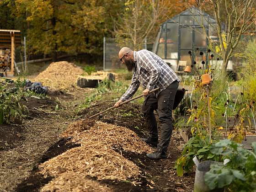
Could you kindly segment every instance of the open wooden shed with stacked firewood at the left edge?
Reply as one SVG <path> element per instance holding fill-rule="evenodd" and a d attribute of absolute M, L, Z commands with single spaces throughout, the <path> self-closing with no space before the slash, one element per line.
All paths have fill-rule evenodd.
<path fill-rule="evenodd" d="M 15 47 L 19 45 L 21 31 L 0 29 L 0 75 L 14 75 Z"/>

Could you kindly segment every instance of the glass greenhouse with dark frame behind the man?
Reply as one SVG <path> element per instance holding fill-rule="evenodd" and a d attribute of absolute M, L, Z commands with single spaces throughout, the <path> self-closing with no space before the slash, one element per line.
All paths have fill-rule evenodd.
<path fill-rule="evenodd" d="M 209 38 L 218 42 L 215 29 L 216 22 L 208 14 L 195 7 L 165 21 L 158 32 L 153 46 L 153 52 L 176 70 L 178 61 L 191 63 L 188 51 L 200 50 L 206 52 Z"/>

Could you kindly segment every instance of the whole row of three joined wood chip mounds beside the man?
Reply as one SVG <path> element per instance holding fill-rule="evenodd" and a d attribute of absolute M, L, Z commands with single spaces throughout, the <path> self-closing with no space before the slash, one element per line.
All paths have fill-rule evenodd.
<path fill-rule="evenodd" d="M 139 167 L 124 158 L 121 151 L 115 151 L 151 152 L 152 149 L 136 133 L 99 121 L 85 130 L 79 128 L 79 123 L 76 125 L 73 123 L 69 126 L 62 136 L 72 137 L 71 142 L 80 143 L 81 146 L 69 149 L 38 166 L 44 177 L 54 178 L 41 191 L 110 191 L 107 186 L 90 177 L 112 181 L 139 179 Z"/>

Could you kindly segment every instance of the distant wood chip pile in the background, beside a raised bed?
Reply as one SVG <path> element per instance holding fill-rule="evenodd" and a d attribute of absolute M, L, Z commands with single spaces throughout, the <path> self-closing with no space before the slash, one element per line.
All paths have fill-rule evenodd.
<path fill-rule="evenodd" d="M 76 86 L 77 78 L 83 69 L 67 61 L 51 63 L 34 81 L 40 81 L 52 89 L 69 91 Z"/>

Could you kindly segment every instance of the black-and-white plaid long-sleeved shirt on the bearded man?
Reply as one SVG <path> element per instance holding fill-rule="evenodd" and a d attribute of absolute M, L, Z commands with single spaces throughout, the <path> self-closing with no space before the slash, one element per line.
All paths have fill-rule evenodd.
<path fill-rule="evenodd" d="M 126 101 L 132 98 L 140 84 L 144 89 L 147 88 L 150 91 L 160 87 L 160 91 L 155 92 L 157 97 L 172 82 L 176 80 L 180 82 L 176 73 L 155 53 L 142 49 L 138 52 L 134 51 L 133 57 L 135 66 L 133 67 L 132 83 L 120 100 Z"/>

